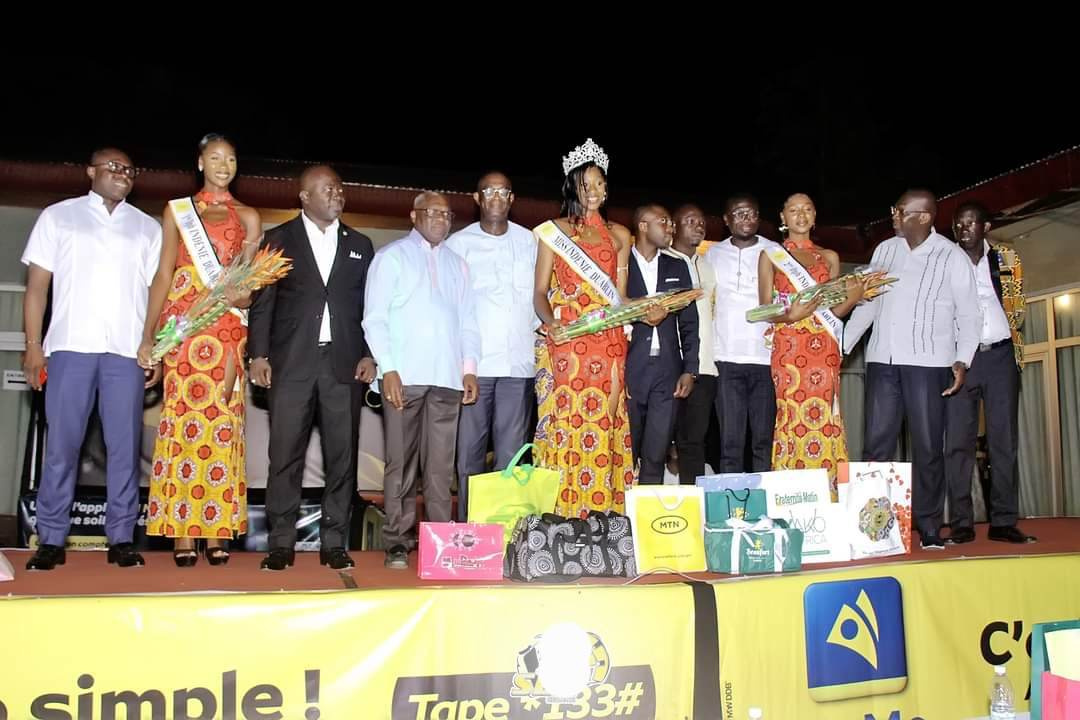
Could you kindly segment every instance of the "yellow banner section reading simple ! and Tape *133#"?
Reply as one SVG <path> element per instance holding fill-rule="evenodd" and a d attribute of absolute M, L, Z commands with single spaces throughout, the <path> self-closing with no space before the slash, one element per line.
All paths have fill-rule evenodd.
<path fill-rule="evenodd" d="M 681 584 L 6 600 L 0 720 L 689 718 L 692 619 Z"/>

